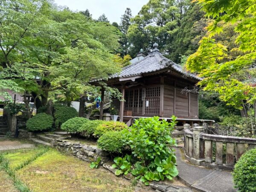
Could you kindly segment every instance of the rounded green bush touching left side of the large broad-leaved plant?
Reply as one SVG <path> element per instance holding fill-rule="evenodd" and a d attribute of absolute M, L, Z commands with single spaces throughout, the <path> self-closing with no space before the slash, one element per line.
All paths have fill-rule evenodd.
<path fill-rule="evenodd" d="M 108 131 L 98 140 L 99 148 L 109 153 L 121 153 L 124 145 L 122 131 Z"/>

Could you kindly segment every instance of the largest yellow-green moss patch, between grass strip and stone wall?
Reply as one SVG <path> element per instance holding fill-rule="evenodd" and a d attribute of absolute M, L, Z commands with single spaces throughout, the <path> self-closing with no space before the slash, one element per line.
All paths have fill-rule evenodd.
<path fill-rule="evenodd" d="M 33 192 L 132 192 L 134 187 L 104 168 L 90 169 L 90 163 L 50 149 L 17 175 Z"/>

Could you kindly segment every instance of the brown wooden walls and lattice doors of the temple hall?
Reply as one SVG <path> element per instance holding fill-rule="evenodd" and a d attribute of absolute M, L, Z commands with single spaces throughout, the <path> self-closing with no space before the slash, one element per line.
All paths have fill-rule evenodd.
<path fill-rule="evenodd" d="M 126 82 L 124 111 L 131 111 L 132 116 L 198 119 L 198 95 L 181 93 L 184 87 L 192 86 L 192 82 L 168 74 Z M 113 99 L 113 105 L 121 107 L 117 99 Z"/>

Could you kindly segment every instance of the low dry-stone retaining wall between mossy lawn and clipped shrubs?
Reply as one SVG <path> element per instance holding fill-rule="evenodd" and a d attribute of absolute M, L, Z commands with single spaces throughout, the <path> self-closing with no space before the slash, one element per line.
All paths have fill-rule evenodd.
<path fill-rule="evenodd" d="M 51 145 L 60 151 L 73 154 L 83 161 L 94 162 L 98 157 L 100 157 L 101 162 L 99 165 L 103 165 L 110 160 L 110 155 L 95 145 L 87 145 L 81 144 L 79 142 L 71 142 L 58 139 L 52 140 Z"/>

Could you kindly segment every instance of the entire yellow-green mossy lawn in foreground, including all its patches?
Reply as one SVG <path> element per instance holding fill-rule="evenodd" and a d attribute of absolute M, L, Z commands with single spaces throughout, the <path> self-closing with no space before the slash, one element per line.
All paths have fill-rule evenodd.
<path fill-rule="evenodd" d="M 123 177 L 116 177 L 102 167 L 91 169 L 90 163 L 61 154 L 52 148 L 47 151 L 40 147 L 25 151 L 9 151 L 4 157 L 9 160 L 9 168 L 17 169 L 15 175 L 33 192 L 135 191 L 135 186 Z M 15 192 L 10 178 L 1 170 L 0 191 Z M 142 188 L 139 191 L 148 192 L 151 189 Z"/>

